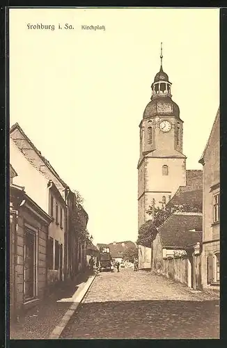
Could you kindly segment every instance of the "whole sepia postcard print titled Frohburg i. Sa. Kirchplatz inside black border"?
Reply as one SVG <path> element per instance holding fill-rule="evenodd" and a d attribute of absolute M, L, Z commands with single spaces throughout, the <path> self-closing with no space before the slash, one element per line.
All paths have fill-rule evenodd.
<path fill-rule="evenodd" d="M 219 8 L 9 8 L 11 340 L 219 338 Z"/>

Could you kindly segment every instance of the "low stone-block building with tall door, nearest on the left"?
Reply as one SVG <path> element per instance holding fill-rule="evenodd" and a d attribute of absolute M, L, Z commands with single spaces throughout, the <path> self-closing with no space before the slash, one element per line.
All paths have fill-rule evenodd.
<path fill-rule="evenodd" d="M 47 291 L 48 227 L 52 221 L 20 187 L 10 166 L 10 319 L 34 306 Z"/>

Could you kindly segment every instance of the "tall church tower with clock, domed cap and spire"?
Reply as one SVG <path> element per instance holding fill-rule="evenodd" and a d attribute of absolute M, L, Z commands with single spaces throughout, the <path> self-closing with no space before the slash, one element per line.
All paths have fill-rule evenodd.
<path fill-rule="evenodd" d="M 162 207 L 179 186 L 186 184 L 186 157 L 182 153 L 183 121 L 179 106 L 173 102 L 171 82 L 161 66 L 151 85 L 152 95 L 140 128 L 138 163 L 139 227 L 151 216 L 149 205 Z"/>

